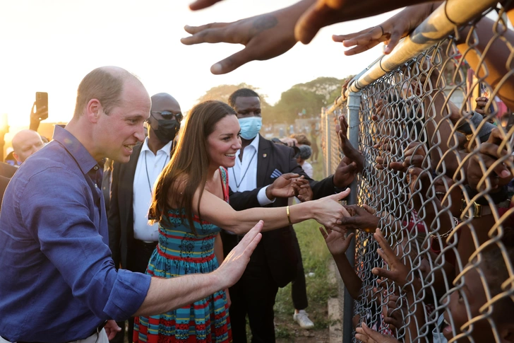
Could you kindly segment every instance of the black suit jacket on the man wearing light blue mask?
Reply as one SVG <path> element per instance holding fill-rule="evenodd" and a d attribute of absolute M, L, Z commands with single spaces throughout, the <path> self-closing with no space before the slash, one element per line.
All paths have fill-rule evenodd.
<path fill-rule="evenodd" d="M 319 199 L 335 193 L 333 177 L 330 175 L 321 181 L 309 178 L 294 158 L 294 150 L 283 145 L 275 144 L 261 136 L 257 152 L 257 188 L 248 192 L 231 192 L 230 204 L 237 211 L 260 207 L 257 201 L 257 193 L 262 187 L 271 185 L 274 178 L 271 178 L 273 171 L 280 170 L 282 174 L 297 173 L 304 175 L 309 180 L 313 190 L 314 199 Z M 276 199 L 273 204 L 267 207 L 285 207 L 287 199 Z M 284 215 L 285 211 L 284 211 Z M 273 279 L 278 286 L 283 287 L 294 279 L 297 272 L 297 254 L 293 246 L 292 226 L 278 228 L 277 230 L 263 233 L 261 245 L 265 250 L 265 258 L 270 267 Z"/>

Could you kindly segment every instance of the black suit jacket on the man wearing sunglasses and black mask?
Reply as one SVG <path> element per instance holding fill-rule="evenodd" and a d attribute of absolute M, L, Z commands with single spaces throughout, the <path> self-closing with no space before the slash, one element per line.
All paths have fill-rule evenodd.
<path fill-rule="evenodd" d="M 127 163 L 112 166 L 111 200 L 109 203 L 109 248 L 114 265 L 126 268 L 126 256 L 134 240 L 133 185 L 136 166 L 143 144 L 134 147 Z"/>

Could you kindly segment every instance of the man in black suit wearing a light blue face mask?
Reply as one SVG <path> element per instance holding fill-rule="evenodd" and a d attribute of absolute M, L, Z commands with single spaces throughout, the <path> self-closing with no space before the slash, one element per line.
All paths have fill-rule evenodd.
<path fill-rule="evenodd" d="M 337 192 L 349 185 L 349 173 L 354 165 L 341 162 L 335 175 L 316 182 L 304 173 L 294 158 L 294 150 L 274 144 L 258 134 L 262 125 L 261 100 L 257 93 L 241 88 L 229 98 L 241 125 L 241 150 L 236 154 L 236 165 L 229 168 L 229 185 L 232 190 L 230 204 L 236 210 L 250 207 L 285 207 L 287 198 L 267 197 L 268 185 L 285 173 L 304 175 L 309 180 L 314 199 Z M 253 192 L 248 197 L 241 192 Z M 223 233 L 225 252 L 241 239 Z M 297 271 L 297 252 L 294 250 L 292 226 L 263 233 L 261 243 L 253 252 L 243 277 L 229 289 L 232 306 L 230 322 L 234 342 L 246 342 L 246 315 L 252 332 L 252 342 L 275 342 L 273 305 L 279 287 L 292 281 Z M 296 242 L 297 243 L 297 242 Z"/>

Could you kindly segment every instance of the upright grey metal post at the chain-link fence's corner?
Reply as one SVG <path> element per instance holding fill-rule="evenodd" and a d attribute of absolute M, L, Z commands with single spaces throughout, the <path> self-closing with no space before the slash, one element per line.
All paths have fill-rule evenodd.
<path fill-rule="evenodd" d="M 348 140 L 357 148 L 359 146 L 359 111 L 361 105 L 361 92 L 350 92 L 347 101 Z M 357 204 L 357 180 L 350 185 L 348 204 Z M 346 252 L 347 259 L 352 267 L 355 267 L 355 240 L 352 240 Z M 342 343 L 350 343 L 353 338 L 353 307 L 354 301 L 345 287 L 345 303 L 342 321 Z"/>

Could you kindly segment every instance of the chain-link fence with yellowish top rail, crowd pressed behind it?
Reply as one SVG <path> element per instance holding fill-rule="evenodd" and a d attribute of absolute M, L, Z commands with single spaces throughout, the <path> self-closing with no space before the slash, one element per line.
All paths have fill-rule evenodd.
<path fill-rule="evenodd" d="M 325 173 L 346 115 L 365 158 L 349 204 L 371 207 L 349 214 L 381 231 L 348 226 L 361 291 L 345 296 L 343 342 L 359 342 L 364 324 L 376 342 L 514 340 L 513 32 L 496 3 L 460 3 L 459 17 L 458 1 L 441 5 L 322 113 Z"/>

